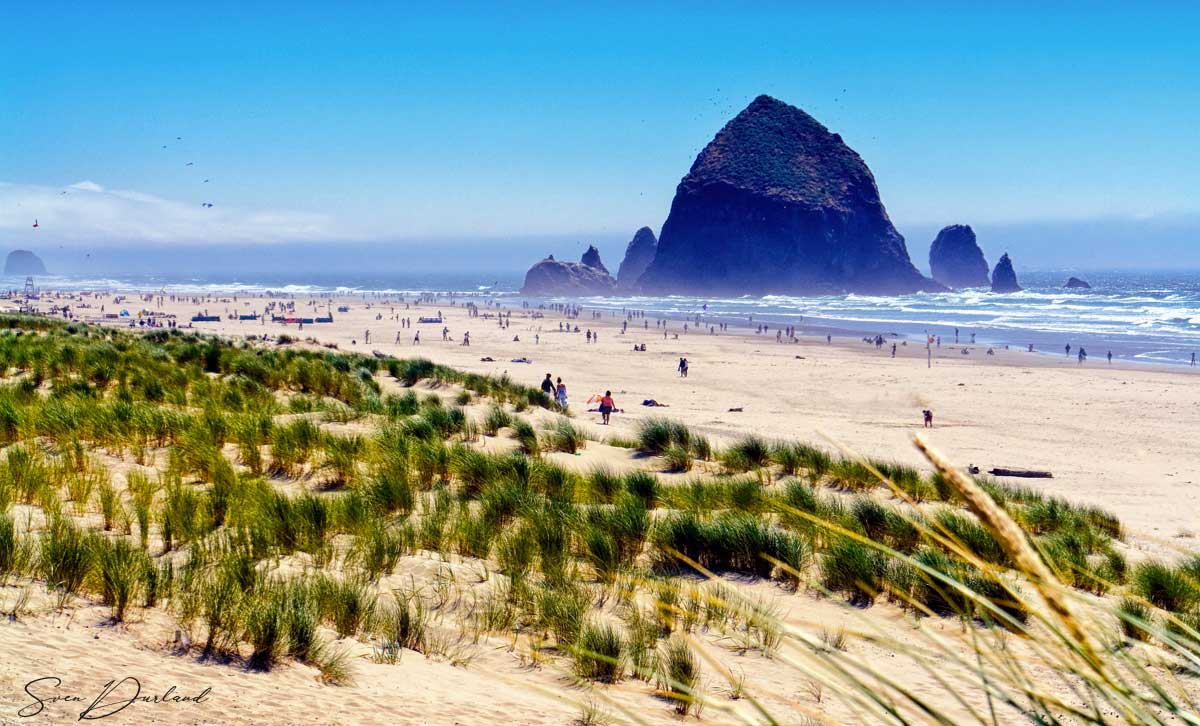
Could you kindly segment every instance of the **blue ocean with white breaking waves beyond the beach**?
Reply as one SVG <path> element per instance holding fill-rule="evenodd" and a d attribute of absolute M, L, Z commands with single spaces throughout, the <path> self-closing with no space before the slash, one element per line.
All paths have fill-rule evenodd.
<path fill-rule="evenodd" d="M 1076 272 L 1076 275 L 1079 275 Z M 576 300 L 589 308 L 644 310 L 652 317 L 724 322 L 731 328 L 757 324 L 796 325 L 812 335 L 881 334 L 887 338 L 924 341 L 926 332 L 942 343 L 958 340 L 978 346 L 1072 355 L 1080 346 L 1098 360 L 1108 352 L 1127 361 L 1183 364 L 1200 353 L 1200 271 L 1094 271 L 1079 275 L 1092 289 L 1066 289 L 1066 272 L 1021 272 L 1025 290 L 994 295 L 970 289 L 914 295 L 824 295 L 800 298 L 613 296 Z M 24 277 L 0 277 L 0 289 L 19 290 Z M 521 276 L 505 274 L 422 274 L 408 276 L 128 277 L 43 276 L 35 284 L 47 289 L 167 290 L 168 293 L 244 292 L 281 294 L 415 294 L 444 292 L 520 305 Z M 530 300 L 538 305 L 554 300 Z M 752 318 L 752 322 L 751 322 Z"/>

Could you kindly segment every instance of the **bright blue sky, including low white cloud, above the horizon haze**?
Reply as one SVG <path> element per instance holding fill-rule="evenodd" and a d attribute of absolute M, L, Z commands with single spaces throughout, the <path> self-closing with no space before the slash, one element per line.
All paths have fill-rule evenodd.
<path fill-rule="evenodd" d="M 901 230 L 1200 212 L 1194 4 L 428 5 L 8 4 L 0 240 L 628 239 L 761 92 Z"/>

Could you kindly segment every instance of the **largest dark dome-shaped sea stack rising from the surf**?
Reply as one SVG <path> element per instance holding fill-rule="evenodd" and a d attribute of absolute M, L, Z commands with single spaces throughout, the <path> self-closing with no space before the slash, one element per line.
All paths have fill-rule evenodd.
<path fill-rule="evenodd" d="M 858 154 L 770 96 L 755 98 L 696 157 L 637 287 L 730 295 L 944 289 L 912 265 Z"/>

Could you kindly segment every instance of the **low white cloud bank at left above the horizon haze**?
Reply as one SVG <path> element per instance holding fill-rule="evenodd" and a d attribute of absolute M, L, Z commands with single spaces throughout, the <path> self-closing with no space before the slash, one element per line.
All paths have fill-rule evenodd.
<path fill-rule="evenodd" d="M 64 193 L 65 192 L 65 193 Z M 34 229 L 34 221 L 38 227 Z M 67 187 L 0 182 L 0 242 L 58 245 L 293 242 L 344 239 L 332 217 L 294 210 L 202 206 L 95 181 Z"/>

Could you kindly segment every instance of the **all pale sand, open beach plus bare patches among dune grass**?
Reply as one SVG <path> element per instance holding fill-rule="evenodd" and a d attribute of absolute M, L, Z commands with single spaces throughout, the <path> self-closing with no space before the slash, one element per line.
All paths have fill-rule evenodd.
<path fill-rule="evenodd" d="M 271 302 L 294 304 L 294 312 L 284 313 L 288 317 L 316 317 L 332 311 L 334 322 L 305 324 L 301 330 L 296 323 L 271 322 L 269 317 L 236 319 L 262 316 Z M 479 305 L 478 310 L 473 312 L 467 302 Z M 628 320 L 628 329 L 623 330 L 623 319 L 614 316 L 596 318 L 583 311 L 569 318 L 554 310 L 493 307 L 482 299 L 462 298 L 416 304 L 412 299 L 406 302 L 361 296 L 212 295 L 160 302 L 157 298 L 139 300 L 134 295 L 114 301 L 113 295 L 47 293 L 36 305 L 42 311 L 70 305 L 76 319 L 96 319 L 114 310 L 127 310 L 128 317 L 102 323 L 122 329 L 128 329 L 132 320 L 134 330 L 146 330 L 139 329 L 137 322 L 156 317 L 192 325 L 199 332 L 252 337 L 256 346 L 276 347 L 278 337 L 286 335 L 293 338 L 294 342 L 287 343 L 292 346 L 336 346 L 338 350 L 365 355 L 421 356 L 468 372 L 506 374 L 530 386 L 550 373 L 562 377 L 575 422 L 595 442 L 631 438 L 638 421 L 666 415 L 709 436 L 714 444 L 728 444 L 755 433 L 923 466 L 911 444 L 911 436 L 923 432 L 962 466 L 977 466 L 984 472 L 992 467 L 1052 472 L 1052 479 L 1012 481 L 1116 514 L 1127 528 L 1120 547 L 1130 562 L 1146 556 L 1175 558 L 1195 548 L 1193 528 L 1200 509 L 1194 482 L 1200 475 L 1200 454 L 1187 445 L 1187 437 L 1200 425 L 1196 406 L 1200 389 L 1195 385 L 1200 379 L 1186 368 L 1110 367 L 1097 359 L 1080 366 L 1074 358 L 1014 350 L 988 355 L 985 348 L 955 346 L 944 338 L 928 358 L 918 341 L 898 344 L 893 358 L 892 341 L 878 349 L 851 337 L 827 342 L 824 337 L 809 336 L 794 343 L 776 342 L 774 329 L 757 334 L 749 323 L 709 334 L 697 332 L 692 325 L 684 332 L 682 320 L 666 322 L 664 334 L 658 320 L 641 318 Z M 14 310 L 16 305 L 5 301 L 4 307 Z M 347 310 L 338 312 L 340 307 Z M 190 323 L 192 316 L 202 313 L 221 319 Z M 440 317 L 442 322 L 422 324 L 418 322 L 421 317 Z M 400 318 L 410 318 L 412 328 L 402 326 Z M 449 329 L 445 340 L 444 328 Z M 420 343 L 413 340 L 416 331 Z M 468 332 L 470 344 L 464 346 L 463 336 Z M 595 334 L 594 342 L 588 342 L 588 332 Z M 643 343 L 644 352 L 634 350 Z M 686 378 L 677 370 L 680 358 L 690 362 Z M 515 362 L 516 359 L 532 362 Z M 395 388 L 396 383 L 388 385 Z M 421 390 L 430 392 L 426 388 Z M 605 390 L 612 391 L 622 409 L 613 414 L 607 427 L 600 425 L 599 413 L 588 410 L 595 404 L 587 403 L 590 395 Z M 454 395 L 452 390 L 437 392 L 448 398 Z M 652 398 L 666 407 L 642 406 Z M 923 430 L 923 409 L 934 412 L 932 428 Z M 468 414 L 481 416 L 485 410 L 482 404 L 473 404 Z M 534 419 L 539 416 L 552 418 L 548 412 L 536 412 Z M 334 431 L 338 428 L 335 426 Z M 509 450 L 512 445 L 511 439 L 485 442 L 486 448 L 494 450 Z M 646 466 L 629 449 L 599 443 L 589 445 L 582 456 L 548 454 L 547 457 L 581 472 L 598 464 L 617 470 Z M 684 475 L 671 476 L 684 479 Z M 463 588 L 460 596 L 470 596 L 474 588 L 487 582 L 486 575 L 480 581 L 469 558 L 449 558 L 443 563 L 427 554 L 413 554 L 404 557 L 398 570 L 379 587 L 402 587 L 406 576 L 428 578 L 440 568 L 452 571 L 455 582 L 462 583 L 455 586 Z M 911 619 L 894 605 L 880 602 L 858 611 L 836 600 L 786 594 L 764 582 L 749 589 L 772 602 L 782 620 L 798 631 L 815 636 L 838 629 L 876 632 L 882 640 L 850 648 L 851 656 L 876 666 L 881 659 L 896 656 L 896 646 L 884 644 L 888 640 L 919 647 L 914 646 L 919 640 L 913 635 Z M 5 601 L 17 598 L 18 592 L 13 587 L 2 588 Z M 37 598 L 29 610 L 52 612 Z M 485 640 L 476 647 L 469 665 L 406 653 L 408 660 L 402 671 L 372 662 L 371 643 L 347 640 L 346 647 L 355 662 L 355 685 L 332 690 L 318 684 L 316 671 L 304 665 L 270 674 L 247 673 L 170 655 L 175 630 L 166 613 L 148 610 L 134 623 L 113 626 L 107 623 L 106 612 L 98 605 L 77 604 L 65 613 L 26 617 L 4 628 L 0 655 L 5 662 L 20 664 L 0 672 L 7 683 L 4 690 L 10 703 L 20 707 L 30 702 L 13 694 L 22 692 L 32 671 L 53 672 L 72 680 L 77 689 L 92 692 L 118 676 L 109 673 L 116 667 L 112 664 L 119 664 L 116 670 L 122 672 L 155 673 L 158 678 L 145 684 L 150 690 L 170 684 L 179 684 L 181 691 L 214 689 L 208 710 L 160 709 L 149 719 L 115 716 L 113 722 L 214 722 L 206 719 L 220 714 L 220 722 L 229 724 L 382 724 L 395 722 L 396 718 L 422 724 L 486 724 L 497 713 L 504 713 L 514 724 L 564 724 L 578 718 L 580 703 L 592 697 L 560 667 L 532 667 L 520 649 L 498 638 Z M 938 637 L 953 641 L 949 647 L 954 652 L 970 653 L 964 640 L 955 640 L 961 631 L 953 622 L 929 623 Z M 797 683 L 794 673 L 769 658 L 731 650 L 715 634 L 696 641 L 695 647 L 722 668 L 743 673 L 760 689 L 757 696 L 776 713 L 796 719 L 822 714 L 832 722 L 856 718 L 853 710 L 838 701 L 823 700 L 818 686 Z M 1018 642 L 1012 647 L 1026 646 Z M 71 658 L 65 659 L 65 652 L 72 653 Z M 911 664 L 898 666 L 898 673 L 923 697 L 942 708 L 958 708 L 935 674 Z M 708 677 L 706 689 L 726 692 L 715 672 Z M 482 694 L 491 695 L 484 698 Z M 982 708 L 982 697 L 972 698 L 971 704 Z M 738 719 L 752 718 L 745 701 L 730 701 L 727 706 L 732 709 L 730 714 L 740 714 Z M 634 721 L 677 721 L 649 686 L 636 680 L 606 690 L 600 707 L 610 714 L 632 709 Z M 47 710 L 56 716 L 66 713 L 62 704 Z M 283 713 L 289 715 L 284 718 Z M 704 720 L 724 722 L 725 715 L 712 710 L 704 714 Z M 629 714 L 622 719 L 625 716 Z"/>

